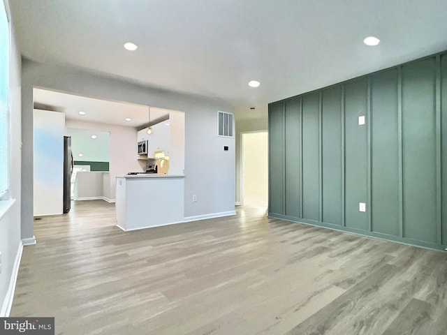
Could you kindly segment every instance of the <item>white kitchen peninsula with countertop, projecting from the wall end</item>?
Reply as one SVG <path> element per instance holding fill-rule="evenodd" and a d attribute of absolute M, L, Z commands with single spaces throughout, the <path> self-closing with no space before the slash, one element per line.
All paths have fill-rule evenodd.
<path fill-rule="evenodd" d="M 117 226 L 124 231 L 184 221 L 184 176 L 130 174 L 117 177 Z"/>

